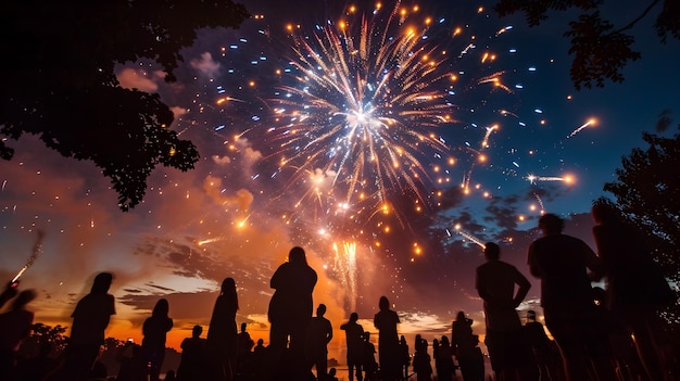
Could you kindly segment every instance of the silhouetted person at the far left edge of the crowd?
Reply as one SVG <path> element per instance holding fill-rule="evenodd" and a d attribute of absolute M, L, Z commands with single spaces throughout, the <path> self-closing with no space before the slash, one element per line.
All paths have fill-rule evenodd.
<path fill-rule="evenodd" d="M 13 378 L 22 342 L 30 334 L 34 314 L 26 305 L 36 297 L 33 290 L 24 290 L 12 302 L 9 312 L 0 315 L 0 376 Z"/>

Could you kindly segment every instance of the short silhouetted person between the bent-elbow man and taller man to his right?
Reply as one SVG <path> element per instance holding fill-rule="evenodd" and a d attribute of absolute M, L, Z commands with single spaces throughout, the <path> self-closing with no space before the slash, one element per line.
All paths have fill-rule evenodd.
<path fill-rule="evenodd" d="M 562 365 L 556 364 L 559 353 L 555 352 L 552 340 L 545 333 L 543 325 L 536 319 L 536 312 L 527 310 L 527 323 L 525 325 L 525 334 L 531 345 L 533 359 L 539 369 L 541 381 L 555 380 L 562 373 Z"/>

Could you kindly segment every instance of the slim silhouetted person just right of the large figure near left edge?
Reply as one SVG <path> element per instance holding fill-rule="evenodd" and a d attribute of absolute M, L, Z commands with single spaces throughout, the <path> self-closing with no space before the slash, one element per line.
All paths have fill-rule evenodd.
<path fill-rule="evenodd" d="M 167 316 L 168 313 L 167 300 L 161 299 L 142 326 L 141 348 L 149 365 L 149 381 L 160 380 L 161 366 L 165 359 L 165 336 L 173 328 L 173 319 Z"/>

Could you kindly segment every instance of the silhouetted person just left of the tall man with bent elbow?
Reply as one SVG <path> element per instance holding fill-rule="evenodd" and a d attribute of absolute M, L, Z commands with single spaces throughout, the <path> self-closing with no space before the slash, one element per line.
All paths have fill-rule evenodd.
<path fill-rule="evenodd" d="M 481 350 L 477 346 L 479 336 L 473 334 L 473 320 L 462 310 L 451 327 L 451 347 L 458 360 L 464 381 L 483 381 L 484 363 Z"/>

